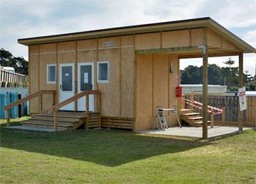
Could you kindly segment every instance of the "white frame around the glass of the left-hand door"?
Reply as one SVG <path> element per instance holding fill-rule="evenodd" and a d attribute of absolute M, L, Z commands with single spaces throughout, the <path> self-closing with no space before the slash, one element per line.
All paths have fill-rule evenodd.
<path fill-rule="evenodd" d="M 60 63 L 59 64 L 59 71 L 60 71 L 59 72 L 59 83 L 58 83 L 58 91 L 59 91 L 59 93 L 58 93 L 59 99 L 58 100 L 59 100 L 59 102 L 62 102 L 60 100 L 61 93 L 71 93 L 71 91 L 65 92 L 65 91 L 60 90 L 60 85 L 62 85 L 62 67 L 72 67 L 72 88 L 73 88 L 73 96 L 75 96 L 75 64 L 74 63 Z M 60 108 L 60 110 L 61 110 L 61 108 Z M 75 110 L 75 103 L 74 102 L 73 102 L 73 109 L 72 110 Z"/>

